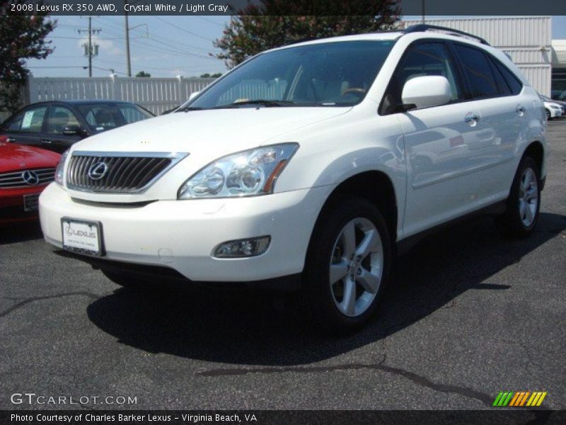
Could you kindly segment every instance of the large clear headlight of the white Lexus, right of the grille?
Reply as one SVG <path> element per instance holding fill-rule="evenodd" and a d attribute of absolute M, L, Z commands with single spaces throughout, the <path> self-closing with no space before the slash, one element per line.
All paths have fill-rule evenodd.
<path fill-rule="evenodd" d="M 272 193 L 275 180 L 298 147 L 296 143 L 282 143 L 216 159 L 183 183 L 178 198 L 229 198 Z"/>

